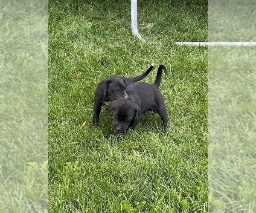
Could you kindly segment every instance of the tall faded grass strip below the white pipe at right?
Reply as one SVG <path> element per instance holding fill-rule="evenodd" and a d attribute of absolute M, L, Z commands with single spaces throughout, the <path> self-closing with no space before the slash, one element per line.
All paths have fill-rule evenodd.
<path fill-rule="evenodd" d="M 209 211 L 256 212 L 256 58 L 209 48 Z"/>

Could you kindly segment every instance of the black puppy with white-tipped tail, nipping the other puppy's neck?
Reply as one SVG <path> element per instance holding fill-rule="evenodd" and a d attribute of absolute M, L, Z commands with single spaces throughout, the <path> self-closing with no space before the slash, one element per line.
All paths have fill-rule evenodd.
<path fill-rule="evenodd" d="M 127 98 L 128 95 L 125 91 L 126 86 L 145 78 L 153 69 L 153 67 L 154 63 L 151 64 L 146 72 L 134 78 L 112 76 L 109 78 L 105 78 L 102 82 L 100 82 L 97 85 L 94 95 L 93 124 L 99 124 L 99 113 L 102 104 L 109 105 L 110 101 L 116 100 L 118 98 Z"/>

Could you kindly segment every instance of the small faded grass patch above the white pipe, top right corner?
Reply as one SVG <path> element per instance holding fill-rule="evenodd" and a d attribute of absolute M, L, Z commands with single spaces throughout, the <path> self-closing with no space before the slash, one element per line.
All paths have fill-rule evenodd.
<path fill-rule="evenodd" d="M 210 41 L 256 41 L 254 0 L 209 1 Z"/>

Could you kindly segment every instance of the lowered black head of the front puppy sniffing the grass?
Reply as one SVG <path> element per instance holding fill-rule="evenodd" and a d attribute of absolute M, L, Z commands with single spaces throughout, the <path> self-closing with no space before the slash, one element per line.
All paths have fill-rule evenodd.
<path fill-rule="evenodd" d="M 140 119 L 140 108 L 128 98 L 111 101 L 108 112 L 111 110 L 113 110 L 113 127 L 119 133 L 125 132 L 129 124 Z"/>

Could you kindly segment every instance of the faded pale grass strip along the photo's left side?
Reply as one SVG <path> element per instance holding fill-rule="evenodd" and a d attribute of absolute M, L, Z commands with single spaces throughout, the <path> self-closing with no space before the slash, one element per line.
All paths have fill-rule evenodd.
<path fill-rule="evenodd" d="M 0 3 L 0 212 L 47 212 L 47 3 Z"/>

